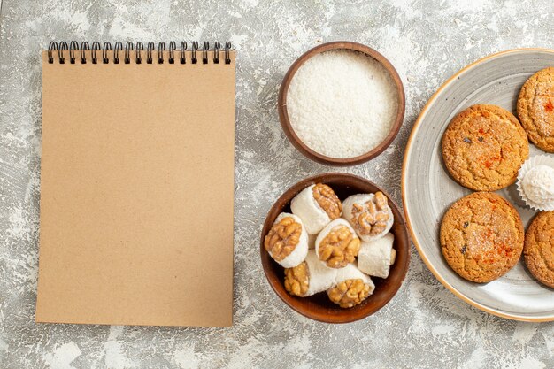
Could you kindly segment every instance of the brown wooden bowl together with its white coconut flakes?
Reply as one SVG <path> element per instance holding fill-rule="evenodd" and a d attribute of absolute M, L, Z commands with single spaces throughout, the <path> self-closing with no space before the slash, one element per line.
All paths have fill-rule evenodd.
<path fill-rule="evenodd" d="M 358 165 L 394 141 L 404 120 L 404 86 L 379 52 L 356 42 L 328 42 L 290 66 L 278 109 L 283 131 L 306 157 Z"/>

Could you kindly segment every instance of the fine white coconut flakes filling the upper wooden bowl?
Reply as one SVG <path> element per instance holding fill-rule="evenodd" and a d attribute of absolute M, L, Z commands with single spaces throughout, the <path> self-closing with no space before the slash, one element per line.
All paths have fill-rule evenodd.
<path fill-rule="evenodd" d="M 306 146 L 327 157 L 354 158 L 389 135 L 398 93 L 378 61 L 358 51 L 329 50 L 298 68 L 286 104 Z"/>

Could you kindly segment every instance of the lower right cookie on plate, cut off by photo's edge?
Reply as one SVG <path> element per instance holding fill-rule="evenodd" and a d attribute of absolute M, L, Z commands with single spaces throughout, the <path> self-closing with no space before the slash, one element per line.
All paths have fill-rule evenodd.
<path fill-rule="evenodd" d="M 542 211 L 525 234 L 523 255 L 537 281 L 554 288 L 554 211 Z"/>

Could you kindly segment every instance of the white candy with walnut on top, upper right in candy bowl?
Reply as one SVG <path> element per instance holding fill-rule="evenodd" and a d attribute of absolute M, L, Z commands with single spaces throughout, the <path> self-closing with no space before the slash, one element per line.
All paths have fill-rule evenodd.
<path fill-rule="evenodd" d="M 389 200 L 381 191 L 348 197 L 342 203 L 342 217 L 365 242 L 381 238 L 395 222 Z"/>

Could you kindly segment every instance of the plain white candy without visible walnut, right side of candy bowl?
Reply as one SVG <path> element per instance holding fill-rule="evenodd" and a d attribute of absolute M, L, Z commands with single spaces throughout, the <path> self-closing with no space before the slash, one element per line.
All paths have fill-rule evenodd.
<path fill-rule="evenodd" d="M 390 265 L 395 264 L 394 234 L 385 234 L 377 240 L 362 242 L 358 252 L 358 268 L 373 277 L 389 277 Z"/>

